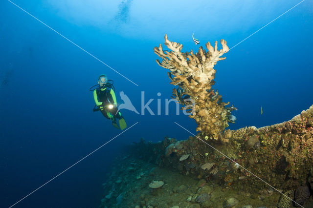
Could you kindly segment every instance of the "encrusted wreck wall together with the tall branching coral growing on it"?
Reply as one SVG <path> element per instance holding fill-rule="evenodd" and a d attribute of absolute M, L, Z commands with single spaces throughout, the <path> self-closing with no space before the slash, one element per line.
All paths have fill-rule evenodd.
<path fill-rule="evenodd" d="M 170 70 L 169 78 L 176 86 L 173 98 L 192 112 L 189 117 L 195 119 L 199 133 L 184 141 L 166 137 L 153 144 L 141 140 L 133 146 L 134 151 L 159 166 L 199 179 L 219 180 L 224 187 L 272 186 L 286 193 L 313 188 L 313 105 L 281 124 L 225 130 L 228 122 L 235 121 L 231 111 L 236 108 L 226 107 L 229 102 L 222 102 L 218 90 L 212 88 L 213 67 L 229 50 L 224 40 L 221 43 L 220 50 L 217 42 L 214 47 L 207 42 L 207 51 L 200 47 L 198 53 L 182 53 L 182 44 L 170 42 L 165 35 L 171 51 L 164 51 L 161 44 L 154 48 L 162 58 L 156 62 Z"/>

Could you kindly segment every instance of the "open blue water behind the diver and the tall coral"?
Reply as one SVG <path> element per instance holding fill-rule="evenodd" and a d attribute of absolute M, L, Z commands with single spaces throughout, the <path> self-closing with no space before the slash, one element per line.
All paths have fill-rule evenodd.
<path fill-rule="evenodd" d="M 100 112 L 92 112 L 89 88 L 100 74 L 141 110 L 145 103 L 161 115 L 121 110 L 134 125 L 82 162 L 41 187 L 15 207 L 98 207 L 112 160 L 123 146 L 157 142 L 164 136 L 191 136 L 196 123 L 175 105 L 165 114 L 173 86 L 167 69 L 155 62 L 153 48 L 170 41 L 198 51 L 224 39 L 231 48 L 279 17 L 299 0 L 105 1 L 14 0 L 52 31 L 7 0 L 0 2 L 0 207 L 9 207 L 41 187 L 121 131 Z M 290 120 L 313 104 L 313 3 L 305 0 L 241 42 L 214 67 L 216 84 L 233 111 L 230 129 L 261 127 Z M 219 43 L 219 48 L 221 47 Z M 161 96 L 157 96 L 157 93 Z M 261 115 L 261 106 L 263 114 Z"/>

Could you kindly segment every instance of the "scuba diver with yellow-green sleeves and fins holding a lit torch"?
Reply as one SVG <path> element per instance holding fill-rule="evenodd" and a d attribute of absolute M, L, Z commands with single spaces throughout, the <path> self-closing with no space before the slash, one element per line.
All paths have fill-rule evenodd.
<path fill-rule="evenodd" d="M 126 122 L 117 108 L 113 81 L 108 80 L 107 76 L 102 74 L 98 78 L 98 84 L 92 86 L 90 91 L 93 91 L 93 98 L 96 103 L 93 112 L 100 110 L 104 117 L 112 120 L 112 125 L 115 128 L 122 130 L 126 128 Z M 117 119 L 119 125 L 117 124 Z"/>

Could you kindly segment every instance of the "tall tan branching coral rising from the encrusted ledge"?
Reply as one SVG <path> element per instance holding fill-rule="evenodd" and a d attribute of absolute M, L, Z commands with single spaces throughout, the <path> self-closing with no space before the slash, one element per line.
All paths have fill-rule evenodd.
<path fill-rule="evenodd" d="M 229 50 L 226 41 L 221 40 L 221 44 L 223 48 L 220 50 L 217 42 L 214 47 L 207 42 L 207 52 L 200 47 L 198 53 L 192 50 L 182 53 L 183 45 L 170 42 L 165 35 L 165 45 L 172 51 L 164 51 L 161 44 L 154 48 L 155 53 L 162 58 L 161 62 L 156 62 L 170 70 L 168 75 L 171 84 L 178 86 L 173 89 L 173 98 L 183 105 L 187 112 L 193 110 L 189 117 L 196 120 L 197 131 L 205 132 L 216 140 L 221 137 L 228 122 L 234 121 L 230 120 L 232 108 L 225 108 L 229 102 L 222 102 L 222 96 L 212 89 L 216 73 L 213 67 L 218 61 L 225 59 L 221 56 Z"/>

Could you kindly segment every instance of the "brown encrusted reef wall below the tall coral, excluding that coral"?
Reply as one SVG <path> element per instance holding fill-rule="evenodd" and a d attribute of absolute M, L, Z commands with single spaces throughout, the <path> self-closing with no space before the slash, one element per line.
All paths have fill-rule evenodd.
<path fill-rule="evenodd" d="M 225 187 L 269 187 L 253 173 L 279 190 L 296 190 L 311 187 L 313 181 L 312 125 L 313 106 L 282 124 L 226 130 L 223 136 L 228 142 L 223 144 L 200 133 L 181 141 L 166 137 L 158 143 L 146 143 L 141 139 L 131 149 L 134 155 L 158 166 L 218 180 Z"/>

